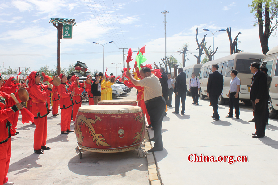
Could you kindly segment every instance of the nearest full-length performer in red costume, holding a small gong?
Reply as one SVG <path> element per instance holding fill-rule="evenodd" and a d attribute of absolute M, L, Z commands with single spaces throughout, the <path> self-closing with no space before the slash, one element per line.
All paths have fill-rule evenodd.
<path fill-rule="evenodd" d="M 44 85 L 40 82 L 40 73 L 32 71 L 28 76 L 30 94 L 33 100 L 32 114 L 34 115 L 34 123 L 36 129 L 34 132 L 34 152 L 37 154 L 44 154 L 43 150 L 50 150 L 46 145 L 47 135 L 47 115 L 49 109 L 47 105 L 47 97 L 53 88 L 52 84 Z"/>

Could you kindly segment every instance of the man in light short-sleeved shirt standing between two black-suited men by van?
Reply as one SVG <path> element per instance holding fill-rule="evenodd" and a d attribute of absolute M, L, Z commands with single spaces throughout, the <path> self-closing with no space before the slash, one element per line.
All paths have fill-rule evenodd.
<path fill-rule="evenodd" d="M 233 109 L 235 109 L 236 118 L 239 119 L 239 89 L 240 89 L 240 80 L 237 77 L 238 71 L 232 70 L 231 77 L 232 80 L 230 81 L 230 90 L 228 93 L 229 97 L 229 115 L 226 117 L 233 117 Z"/>

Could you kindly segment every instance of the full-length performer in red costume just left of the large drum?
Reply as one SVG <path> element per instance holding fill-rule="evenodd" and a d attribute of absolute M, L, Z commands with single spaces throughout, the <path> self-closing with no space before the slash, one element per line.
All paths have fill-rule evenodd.
<path fill-rule="evenodd" d="M 61 84 L 58 86 L 61 109 L 61 134 L 69 134 L 69 132 L 73 132 L 70 130 L 70 120 L 73 105 L 72 96 L 74 92 L 70 92 L 70 85 L 66 83 L 67 76 L 65 76 L 65 74 L 60 74 L 59 77 L 61 79 Z"/>

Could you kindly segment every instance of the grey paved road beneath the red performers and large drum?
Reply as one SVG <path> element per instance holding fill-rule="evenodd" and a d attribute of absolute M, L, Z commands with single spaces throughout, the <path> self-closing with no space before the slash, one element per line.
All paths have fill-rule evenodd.
<path fill-rule="evenodd" d="M 120 98 L 127 97 L 136 99 L 135 91 Z M 19 119 L 21 121 L 21 116 Z M 75 134 L 61 135 L 60 119 L 60 115 L 48 116 L 47 146 L 51 150 L 45 150 L 43 155 L 33 151 L 35 125 L 23 125 L 19 121 L 17 131 L 20 133 L 12 137 L 9 181 L 15 185 L 149 184 L 147 159 L 138 158 L 135 151 L 109 154 L 85 152 L 80 159 L 75 152 Z"/>

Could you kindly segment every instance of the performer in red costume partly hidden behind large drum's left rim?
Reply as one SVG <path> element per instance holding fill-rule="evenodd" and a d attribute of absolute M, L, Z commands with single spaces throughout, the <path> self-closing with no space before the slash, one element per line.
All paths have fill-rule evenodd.
<path fill-rule="evenodd" d="M 79 107 L 81 107 L 81 102 L 82 102 L 81 94 L 87 86 L 84 83 L 79 83 L 79 78 L 76 75 L 71 77 L 71 81 L 72 81 L 72 83 L 70 86 L 70 90 L 74 91 L 74 95 L 72 97 L 73 102 L 74 102 L 72 119 L 73 119 L 73 122 L 75 123 L 75 117 L 76 117 L 77 111 L 78 111 Z"/>

